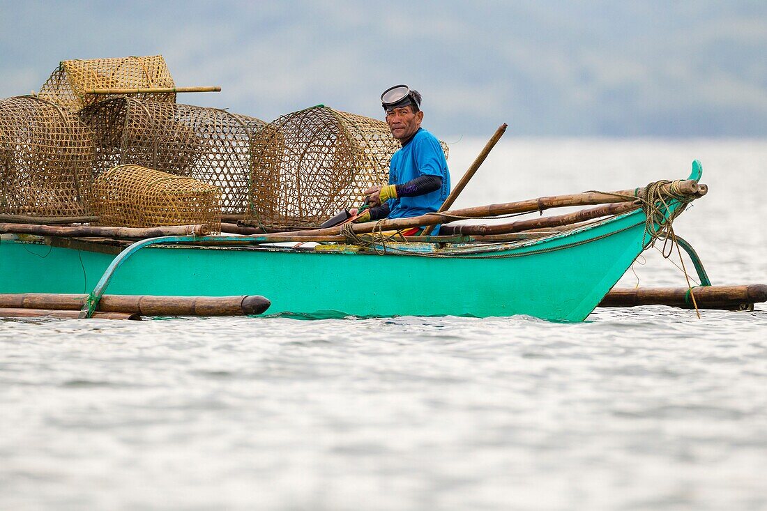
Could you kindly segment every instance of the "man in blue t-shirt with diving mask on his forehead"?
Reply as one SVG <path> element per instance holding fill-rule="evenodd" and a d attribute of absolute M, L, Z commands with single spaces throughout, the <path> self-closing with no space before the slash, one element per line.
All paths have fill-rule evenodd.
<path fill-rule="evenodd" d="M 421 127 L 421 94 L 407 85 L 395 85 L 381 94 L 381 105 L 391 134 L 402 147 L 391 157 L 389 184 L 365 190 L 370 208 L 354 221 L 409 218 L 438 211 L 450 192 L 450 173 L 439 140 Z M 356 215 L 357 211 L 350 213 Z M 438 232 L 437 228 L 432 233 Z"/>

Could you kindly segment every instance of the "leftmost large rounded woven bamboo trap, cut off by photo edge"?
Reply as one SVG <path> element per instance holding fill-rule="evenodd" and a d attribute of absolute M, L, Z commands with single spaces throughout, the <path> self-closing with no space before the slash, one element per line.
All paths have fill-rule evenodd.
<path fill-rule="evenodd" d="M 76 115 L 36 97 L 0 100 L 0 213 L 87 215 L 93 159 Z"/>

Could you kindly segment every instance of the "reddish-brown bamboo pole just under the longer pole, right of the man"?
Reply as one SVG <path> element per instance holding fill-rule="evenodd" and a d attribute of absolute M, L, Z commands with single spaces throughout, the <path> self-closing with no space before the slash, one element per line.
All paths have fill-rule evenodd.
<path fill-rule="evenodd" d="M 639 203 L 614 203 L 605 206 L 597 206 L 591 209 L 581 209 L 575 213 L 558 216 L 545 216 L 529 220 L 521 220 L 511 223 L 499 223 L 494 226 L 488 225 L 463 225 L 463 226 L 443 226 L 440 232 L 449 234 L 467 234 L 486 236 L 491 234 L 508 234 L 510 232 L 522 232 L 529 229 L 543 229 L 548 227 L 570 226 L 571 224 L 581 223 L 585 220 L 601 218 L 602 216 L 620 215 L 633 209 L 639 209 Z"/>

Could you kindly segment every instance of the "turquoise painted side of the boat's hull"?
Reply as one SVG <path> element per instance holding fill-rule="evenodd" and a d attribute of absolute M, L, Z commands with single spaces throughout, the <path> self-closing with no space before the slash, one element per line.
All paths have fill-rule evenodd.
<path fill-rule="evenodd" d="M 693 164 L 691 179 L 700 178 L 700 169 L 697 176 L 695 170 Z M 645 248 L 644 229 L 644 213 L 628 213 L 475 259 L 153 246 L 126 259 L 106 293 L 264 295 L 272 301 L 268 314 L 521 314 L 582 321 Z M 0 243 L 0 292 L 90 292 L 112 259 L 5 240 Z"/>

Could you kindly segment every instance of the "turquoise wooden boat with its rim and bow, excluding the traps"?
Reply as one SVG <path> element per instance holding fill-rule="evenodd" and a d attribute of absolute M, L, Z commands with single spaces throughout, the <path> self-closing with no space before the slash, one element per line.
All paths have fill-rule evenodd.
<path fill-rule="evenodd" d="M 269 315 L 528 315 L 583 321 L 686 203 L 706 193 L 699 185 L 702 172 L 695 161 L 687 180 L 673 182 L 687 184 L 685 198 L 661 196 L 640 207 L 639 188 L 629 197 L 592 193 L 583 204 L 628 203 L 630 208 L 558 229 L 515 229 L 495 236 L 406 239 L 385 230 L 445 223 L 467 216 L 468 209 L 400 224 L 389 220 L 377 226 L 378 232 L 366 224 L 347 224 L 276 235 L 154 236 L 132 244 L 6 227 L 0 293 L 89 293 L 91 310 L 85 315 L 104 293 L 257 294 L 272 302 Z M 533 199 L 524 207 L 507 203 L 471 211 L 482 212 L 475 216 L 542 212 L 544 203 Z"/>

